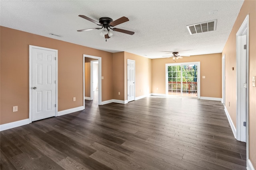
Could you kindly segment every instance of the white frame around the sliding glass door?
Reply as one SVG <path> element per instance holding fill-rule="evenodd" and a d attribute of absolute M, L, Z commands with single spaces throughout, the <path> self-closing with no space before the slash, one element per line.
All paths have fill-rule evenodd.
<path fill-rule="evenodd" d="M 196 62 L 189 62 L 189 63 L 167 63 L 165 64 L 165 95 L 169 96 L 168 94 L 168 66 L 174 65 L 190 65 L 190 64 L 197 64 L 197 98 L 200 99 L 200 61 Z M 184 97 L 184 96 L 182 96 Z M 190 98 L 190 97 L 186 97 Z M 192 97 L 194 98 L 194 97 Z"/>

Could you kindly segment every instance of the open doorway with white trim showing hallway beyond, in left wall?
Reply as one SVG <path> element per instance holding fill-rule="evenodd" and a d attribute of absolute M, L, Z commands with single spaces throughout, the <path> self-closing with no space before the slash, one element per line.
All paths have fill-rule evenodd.
<path fill-rule="evenodd" d="M 83 63 L 84 101 L 94 100 L 98 102 L 98 105 L 102 105 L 101 57 L 84 55 Z M 95 90 L 94 86 L 96 86 Z"/>

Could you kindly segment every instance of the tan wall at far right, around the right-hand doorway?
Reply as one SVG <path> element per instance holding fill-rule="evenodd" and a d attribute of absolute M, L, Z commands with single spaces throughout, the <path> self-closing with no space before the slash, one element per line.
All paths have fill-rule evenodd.
<path fill-rule="evenodd" d="M 256 87 L 252 87 L 252 76 L 256 76 L 256 1 L 245 0 L 234 23 L 228 41 L 222 51 L 226 64 L 226 107 L 236 125 L 236 33 L 249 14 L 249 159 L 256 168 Z M 234 67 L 234 71 L 230 68 Z M 228 103 L 230 102 L 230 107 Z"/>

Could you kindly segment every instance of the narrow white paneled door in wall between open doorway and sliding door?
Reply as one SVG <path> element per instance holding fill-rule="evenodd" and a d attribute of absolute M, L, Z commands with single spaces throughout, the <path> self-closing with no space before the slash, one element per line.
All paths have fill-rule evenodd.
<path fill-rule="evenodd" d="M 127 59 L 127 101 L 135 100 L 135 61 Z"/>

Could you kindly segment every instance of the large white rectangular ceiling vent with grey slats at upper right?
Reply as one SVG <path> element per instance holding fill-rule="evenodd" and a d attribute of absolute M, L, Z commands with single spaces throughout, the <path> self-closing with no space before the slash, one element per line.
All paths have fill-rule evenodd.
<path fill-rule="evenodd" d="M 187 29 L 191 35 L 197 34 L 197 33 L 208 32 L 208 31 L 214 31 L 216 29 L 216 23 L 217 23 L 217 20 L 206 21 L 206 22 L 202 22 L 202 23 L 188 25 Z"/>

